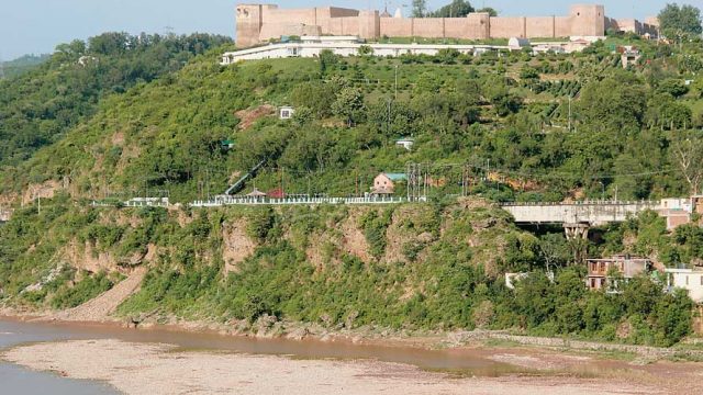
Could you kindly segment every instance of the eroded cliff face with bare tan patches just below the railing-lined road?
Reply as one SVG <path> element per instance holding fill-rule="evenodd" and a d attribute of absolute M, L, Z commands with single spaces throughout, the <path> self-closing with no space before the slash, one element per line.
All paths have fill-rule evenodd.
<path fill-rule="evenodd" d="M 325 278 L 342 281 L 349 274 L 345 273 L 347 270 L 384 268 L 380 270 L 388 271 L 389 278 L 381 280 L 388 283 L 379 283 L 377 291 L 394 295 L 395 303 L 410 303 L 436 286 L 438 279 L 431 268 L 447 260 L 482 266 L 486 272 L 495 274 L 504 235 L 521 233 L 504 212 L 482 201 L 444 206 L 209 210 L 71 205 L 47 206 L 46 213 L 51 221 L 20 212 L 9 223 L 19 232 L 13 236 L 14 242 L 26 248 L 19 248 L 21 251 L 13 256 L 10 266 L 14 271 L 0 273 L 3 285 L 9 285 L 10 293 L 32 293 L 35 300 L 31 304 L 42 308 L 51 306 L 56 295 L 65 297 L 74 287 L 83 286 L 85 280 L 101 275 L 131 279 L 129 286 L 105 293 L 99 303 L 87 305 L 86 311 L 99 311 L 101 317 L 114 312 L 133 293 L 140 302 L 133 302 L 136 306 L 129 309 L 130 314 L 160 308 L 158 301 L 164 297 L 160 293 L 171 292 L 170 287 L 180 286 L 179 278 L 191 279 L 193 273 L 196 276 L 187 281 L 194 281 L 189 286 L 196 287 L 185 287 L 185 295 L 226 284 L 233 276 L 242 281 L 268 270 L 275 276 L 275 272 L 286 270 L 289 264 L 312 268 L 311 273 L 301 269 L 304 274 L 298 275 L 311 275 L 299 279 L 302 282 Z M 22 228 L 31 225 L 42 229 L 44 236 L 23 234 Z M 140 292 L 135 283 L 143 278 L 148 282 L 149 276 L 161 276 L 164 280 L 159 281 L 164 283 L 156 281 L 144 291 L 146 294 Z M 120 301 L 110 302 L 113 294 L 120 295 Z"/>

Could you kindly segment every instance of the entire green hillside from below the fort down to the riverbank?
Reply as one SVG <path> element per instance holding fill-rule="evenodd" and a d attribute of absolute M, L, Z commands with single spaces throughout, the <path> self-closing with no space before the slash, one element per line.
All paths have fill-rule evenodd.
<path fill-rule="evenodd" d="M 623 44 L 643 52 L 627 69 Z M 650 278 L 623 294 L 588 292 L 573 251 L 691 264 L 703 259 L 699 226 L 669 234 L 646 213 L 581 246 L 562 229 L 521 229 L 494 203 L 700 192 L 700 44 L 616 36 L 573 55 L 328 53 L 227 67 L 219 57 L 231 43 L 207 35 L 59 46 L 0 81 L 0 203 L 15 208 L 0 225 L 0 302 L 72 307 L 146 267 L 122 317 L 672 345 L 691 331 L 688 296 Z M 292 120 L 278 119 L 281 105 Z M 395 146 L 408 136 L 411 150 Z M 429 202 L 187 206 L 261 160 L 245 192 L 358 194 L 381 171 L 422 163 Z M 469 198 L 457 199 L 465 176 Z M 38 189 L 51 192 L 41 211 Z M 90 206 L 164 193 L 183 205 Z M 512 291 L 506 272 L 534 275 Z"/>

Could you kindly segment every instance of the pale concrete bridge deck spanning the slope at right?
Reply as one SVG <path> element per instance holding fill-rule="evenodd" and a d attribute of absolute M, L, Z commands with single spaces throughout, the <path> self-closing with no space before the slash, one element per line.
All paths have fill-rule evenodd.
<path fill-rule="evenodd" d="M 518 224 L 589 224 L 623 222 L 646 210 L 659 210 L 660 202 L 585 201 L 577 203 L 503 203 L 503 210 Z"/>

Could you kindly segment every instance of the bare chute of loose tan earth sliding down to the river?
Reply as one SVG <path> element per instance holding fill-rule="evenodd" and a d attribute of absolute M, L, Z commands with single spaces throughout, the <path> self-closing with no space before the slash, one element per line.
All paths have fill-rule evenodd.
<path fill-rule="evenodd" d="M 53 318 L 70 321 L 109 320 L 110 315 L 114 313 L 118 306 L 130 297 L 130 295 L 138 291 L 145 274 L 146 268 L 137 268 L 129 278 L 122 280 L 110 291 L 78 307 L 57 313 Z"/>

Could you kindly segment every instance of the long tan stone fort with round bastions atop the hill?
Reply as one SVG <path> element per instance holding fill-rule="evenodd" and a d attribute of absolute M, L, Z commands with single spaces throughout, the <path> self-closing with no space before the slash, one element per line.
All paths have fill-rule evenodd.
<path fill-rule="evenodd" d="M 462 18 L 403 18 L 400 12 L 337 7 L 281 9 L 276 4 L 238 4 L 236 43 L 250 47 L 281 36 L 346 35 L 364 40 L 424 38 L 550 38 L 602 37 L 607 30 L 657 35 L 657 21 L 615 20 L 599 4 L 573 4 L 566 16 L 491 16 L 484 12 Z"/>

